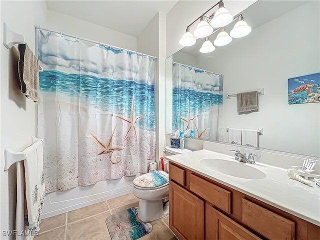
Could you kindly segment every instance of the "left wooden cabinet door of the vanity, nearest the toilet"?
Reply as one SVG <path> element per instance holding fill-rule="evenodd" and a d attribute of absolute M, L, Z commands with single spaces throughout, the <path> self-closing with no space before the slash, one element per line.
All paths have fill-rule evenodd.
<path fill-rule="evenodd" d="M 204 237 L 204 202 L 169 181 L 169 227 L 180 239 Z"/>

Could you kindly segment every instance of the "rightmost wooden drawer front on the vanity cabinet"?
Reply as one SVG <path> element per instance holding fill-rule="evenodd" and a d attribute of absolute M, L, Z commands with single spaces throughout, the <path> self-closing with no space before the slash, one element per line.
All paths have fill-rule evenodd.
<path fill-rule="evenodd" d="M 294 221 L 244 198 L 241 221 L 268 239 L 294 239 Z"/>

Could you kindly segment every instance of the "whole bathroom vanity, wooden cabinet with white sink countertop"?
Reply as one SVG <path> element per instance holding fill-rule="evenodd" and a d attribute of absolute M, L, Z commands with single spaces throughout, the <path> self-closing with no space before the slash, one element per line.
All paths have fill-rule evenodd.
<path fill-rule="evenodd" d="M 319 186 L 289 179 L 285 168 L 237 162 L 231 154 L 198 150 L 166 157 L 169 227 L 180 240 L 320 239 Z M 210 161 L 220 162 L 211 167 Z M 224 171 L 223 161 L 233 172 Z"/>

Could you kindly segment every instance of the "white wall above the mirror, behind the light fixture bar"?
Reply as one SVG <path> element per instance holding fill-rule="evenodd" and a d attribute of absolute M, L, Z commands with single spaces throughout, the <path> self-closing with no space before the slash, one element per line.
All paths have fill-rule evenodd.
<path fill-rule="evenodd" d="M 172 55 L 182 48 L 179 39 L 185 32 L 186 27 L 212 7 L 217 1 L 178 1 L 174 7 L 166 14 L 166 57 Z M 233 15 L 238 14 L 256 0 L 224 0 L 224 6 Z M 210 13 L 214 12 L 217 7 L 213 8 Z M 191 32 L 196 27 L 193 24 Z"/>

